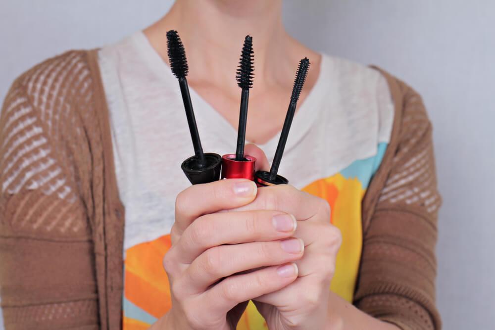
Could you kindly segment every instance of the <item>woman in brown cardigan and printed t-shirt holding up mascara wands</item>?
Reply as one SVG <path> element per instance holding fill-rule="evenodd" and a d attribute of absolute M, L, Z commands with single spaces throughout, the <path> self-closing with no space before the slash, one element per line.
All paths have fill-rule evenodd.
<path fill-rule="evenodd" d="M 440 197 L 422 101 L 383 71 L 292 39 L 281 6 L 177 0 L 144 32 L 14 82 L 0 123 L 6 329 L 440 329 Z M 253 36 L 247 140 L 260 147 L 246 153 L 258 168 L 297 62 L 310 59 L 280 167 L 296 188 L 189 187 L 171 29 L 203 146 L 220 154 L 235 148 L 234 76 Z"/>

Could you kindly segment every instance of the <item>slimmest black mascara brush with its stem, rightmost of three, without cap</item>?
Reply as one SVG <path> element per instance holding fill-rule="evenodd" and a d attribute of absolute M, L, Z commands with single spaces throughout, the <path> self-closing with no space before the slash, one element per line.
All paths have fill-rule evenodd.
<path fill-rule="evenodd" d="M 289 103 L 289 108 L 287 109 L 284 127 L 282 128 L 282 132 L 280 133 L 277 151 L 275 151 L 275 157 L 273 157 L 272 167 L 270 168 L 270 180 L 275 180 L 275 178 L 277 177 L 280 161 L 282 160 L 285 144 L 287 142 L 289 131 L 291 129 L 292 120 L 294 119 L 294 114 L 296 113 L 297 100 L 299 100 L 299 95 L 301 94 L 302 87 L 304 86 L 304 82 L 306 81 L 308 69 L 309 60 L 307 59 L 307 57 L 304 57 L 299 61 L 299 66 L 297 68 L 296 79 L 294 81 L 294 87 L 292 88 L 291 102 Z"/>

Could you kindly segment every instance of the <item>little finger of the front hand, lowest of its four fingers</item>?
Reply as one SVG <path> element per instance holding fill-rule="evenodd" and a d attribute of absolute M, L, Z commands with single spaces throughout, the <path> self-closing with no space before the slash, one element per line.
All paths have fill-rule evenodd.
<path fill-rule="evenodd" d="M 297 266 L 285 264 L 233 275 L 203 293 L 204 301 L 216 301 L 212 312 L 229 311 L 239 302 L 282 289 L 297 279 Z"/>

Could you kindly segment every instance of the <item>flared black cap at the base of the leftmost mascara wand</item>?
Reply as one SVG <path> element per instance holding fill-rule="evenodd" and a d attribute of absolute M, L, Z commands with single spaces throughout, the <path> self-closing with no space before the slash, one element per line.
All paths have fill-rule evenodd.
<path fill-rule="evenodd" d="M 222 157 L 219 154 L 206 152 L 204 154 L 206 166 L 198 166 L 196 156 L 189 157 L 182 162 L 181 168 L 184 174 L 193 185 L 207 184 L 218 181 L 220 178 L 220 167 L 222 166 Z"/>

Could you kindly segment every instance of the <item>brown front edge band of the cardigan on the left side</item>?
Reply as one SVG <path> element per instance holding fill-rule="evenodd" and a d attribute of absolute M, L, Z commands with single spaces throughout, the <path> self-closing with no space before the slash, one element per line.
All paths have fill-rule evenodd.
<path fill-rule="evenodd" d="M 99 73 L 98 49 L 88 52 L 88 59 L 93 76 L 93 98 L 98 117 L 99 140 L 102 148 L 102 167 L 100 182 L 94 182 L 95 195 L 101 196 L 101 203 L 96 215 L 95 251 L 99 296 L 100 329 L 122 328 L 122 294 L 123 294 L 123 240 L 124 207 L 119 199 L 113 147 L 111 140 L 109 111 L 103 84 Z"/>

